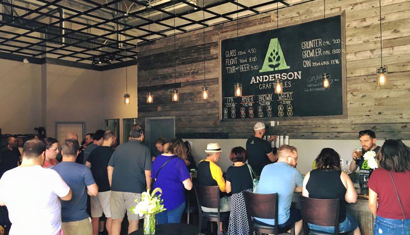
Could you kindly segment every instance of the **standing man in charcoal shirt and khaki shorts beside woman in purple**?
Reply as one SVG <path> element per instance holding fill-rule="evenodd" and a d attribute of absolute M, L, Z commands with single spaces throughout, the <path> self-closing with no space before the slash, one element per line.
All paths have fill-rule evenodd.
<path fill-rule="evenodd" d="M 119 235 L 121 223 L 127 212 L 128 233 L 138 230 L 138 214 L 129 209 L 135 207 L 141 193 L 151 188 L 151 152 L 142 143 L 144 130 L 133 126 L 132 139 L 116 147 L 108 163 L 108 181 L 111 186 L 111 234 Z"/>

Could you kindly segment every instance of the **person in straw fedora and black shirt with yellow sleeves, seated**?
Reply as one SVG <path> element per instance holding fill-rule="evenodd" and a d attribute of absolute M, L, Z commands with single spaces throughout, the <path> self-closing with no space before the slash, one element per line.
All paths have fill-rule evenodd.
<path fill-rule="evenodd" d="M 221 147 L 218 143 L 207 145 L 207 159 L 201 160 L 198 164 L 197 183 L 202 186 L 219 186 L 220 191 L 220 212 L 231 210 L 230 198 L 227 197 L 225 179 L 222 176 L 221 168 L 216 165 L 221 156 Z M 204 212 L 217 212 L 216 208 L 202 207 Z"/>

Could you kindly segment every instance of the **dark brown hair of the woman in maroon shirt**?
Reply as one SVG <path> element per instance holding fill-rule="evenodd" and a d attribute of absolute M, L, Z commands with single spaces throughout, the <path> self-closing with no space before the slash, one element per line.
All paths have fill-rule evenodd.
<path fill-rule="evenodd" d="M 401 140 L 386 140 L 376 159 L 385 170 L 410 171 L 410 150 Z"/>

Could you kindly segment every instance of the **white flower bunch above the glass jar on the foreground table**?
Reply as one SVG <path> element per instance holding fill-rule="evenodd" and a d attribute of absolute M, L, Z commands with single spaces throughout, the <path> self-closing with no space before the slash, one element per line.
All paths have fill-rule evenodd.
<path fill-rule="evenodd" d="M 156 192 L 162 193 L 160 188 L 155 188 L 152 193 L 149 193 L 149 189 L 146 192 L 141 193 L 141 202 L 137 206 L 131 208 L 130 210 L 134 214 L 143 215 L 155 215 L 167 209 L 163 208 L 163 200 L 161 199 L 161 194 L 155 195 Z M 138 200 L 135 200 L 138 202 Z"/>

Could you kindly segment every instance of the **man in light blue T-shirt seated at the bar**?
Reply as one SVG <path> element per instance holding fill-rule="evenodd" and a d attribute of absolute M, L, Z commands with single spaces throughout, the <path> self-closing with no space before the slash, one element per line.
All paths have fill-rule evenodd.
<path fill-rule="evenodd" d="M 288 227 L 295 223 L 295 234 L 302 229 L 300 210 L 291 207 L 294 192 L 302 191 L 303 176 L 296 169 L 298 151 L 294 146 L 282 145 L 277 150 L 276 163 L 266 165 L 259 180 L 258 193 L 278 193 L 278 226 Z M 259 222 L 275 225 L 274 219 L 255 218 Z"/>

